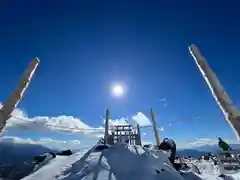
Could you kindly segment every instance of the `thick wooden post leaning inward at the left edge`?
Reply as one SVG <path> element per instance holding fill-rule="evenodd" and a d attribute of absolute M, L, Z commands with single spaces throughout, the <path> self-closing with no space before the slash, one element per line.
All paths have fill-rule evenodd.
<path fill-rule="evenodd" d="M 0 134 L 3 131 L 7 120 L 11 117 L 11 113 L 17 107 L 19 101 L 22 99 L 25 90 L 28 87 L 29 82 L 39 64 L 39 59 L 34 58 L 30 61 L 28 68 L 25 70 L 19 80 L 18 86 L 12 91 L 7 100 L 2 104 L 0 110 Z"/>

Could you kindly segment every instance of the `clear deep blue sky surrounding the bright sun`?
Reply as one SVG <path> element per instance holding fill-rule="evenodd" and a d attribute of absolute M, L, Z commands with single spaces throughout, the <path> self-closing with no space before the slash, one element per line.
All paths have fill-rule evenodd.
<path fill-rule="evenodd" d="M 40 65 L 19 104 L 30 117 L 64 114 L 99 127 L 107 107 L 113 119 L 136 112 L 149 117 L 153 108 L 158 124 L 201 116 L 164 127 L 161 137 L 233 139 L 188 46 L 200 48 L 233 102 L 240 104 L 238 5 L 188 0 L 1 1 L 0 100 L 37 56 Z M 122 99 L 109 92 L 115 81 L 128 88 Z M 12 128 L 6 134 L 24 136 L 22 131 Z M 152 139 L 150 129 L 142 131 Z M 62 138 L 59 133 L 26 133 Z"/>

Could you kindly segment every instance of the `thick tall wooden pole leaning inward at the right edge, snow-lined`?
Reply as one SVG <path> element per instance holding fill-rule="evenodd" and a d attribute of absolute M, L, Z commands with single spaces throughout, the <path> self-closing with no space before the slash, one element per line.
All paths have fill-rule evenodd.
<path fill-rule="evenodd" d="M 208 87 L 210 88 L 213 97 L 218 106 L 222 110 L 226 121 L 235 132 L 237 138 L 240 137 L 240 112 L 232 103 L 227 92 L 220 84 L 216 74 L 212 71 L 207 63 L 207 60 L 201 55 L 200 51 L 195 45 L 189 47 L 189 51 L 194 58 L 200 72 L 203 75 Z"/>

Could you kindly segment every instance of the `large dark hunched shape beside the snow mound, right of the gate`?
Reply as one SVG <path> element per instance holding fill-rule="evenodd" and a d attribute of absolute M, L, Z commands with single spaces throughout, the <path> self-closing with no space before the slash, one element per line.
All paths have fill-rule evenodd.
<path fill-rule="evenodd" d="M 170 151 L 169 160 L 172 164 L 174 164 L 174 160 L 176 157 L 176 143 L 172 139 L 165 138 L 162 143 L 159 145 L 159 149 L 163 151 Z"/>

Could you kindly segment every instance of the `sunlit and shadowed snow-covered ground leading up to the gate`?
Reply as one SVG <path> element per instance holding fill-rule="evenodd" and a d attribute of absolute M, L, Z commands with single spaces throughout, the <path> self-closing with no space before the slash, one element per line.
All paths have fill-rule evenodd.
<path fill-rule="evenodd" d="M 23 180 L 222 180 L 210 161 L 191 162 L 201 174 L 179 172 L 172 168 L 168 155 L 150 152 L 139 146 L 116 144 L 104 150 L 92 148 L 71 156 L 57 156 Z M 225 176 L 240 180 L 240 174 Z"/>

